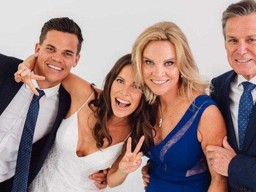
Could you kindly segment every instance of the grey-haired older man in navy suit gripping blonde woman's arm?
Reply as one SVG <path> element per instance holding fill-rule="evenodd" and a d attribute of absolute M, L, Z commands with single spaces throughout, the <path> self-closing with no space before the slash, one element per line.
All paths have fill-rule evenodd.
<path fill-rule="evenodd" d="M 233 70 L 212 79 L 211 96 L 225 119 L 223 148 L 207 146 L 213 170 L 228 176 L 231 192 L 256 191 L 256 2 L 231 4 L 222 17 Z"/>

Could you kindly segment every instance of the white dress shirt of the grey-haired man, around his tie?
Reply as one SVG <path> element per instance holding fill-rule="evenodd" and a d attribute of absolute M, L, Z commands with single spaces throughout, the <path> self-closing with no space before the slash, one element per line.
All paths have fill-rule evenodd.
<path fill-rule="evenodd" d="M 234 131 L 236 134 L 236 142 L 239 148 L 239 136 L 238 136 L 238 107 L 239 107 L 239 100 L 241 95 L 243 94 L 243 85 L 244 81 L 248 81 L 241 75 L 237 75 L 234 80 L 230 83 L 230 92 L 229 92 L 229 102 L 230 102 L 230 112 L 232 116 Z M 256 76 L 254 76 L 249 81 L 256 85 Z M 252 90 L 252 99 L 253 104 L 256 102 L 256 89 Z"/>

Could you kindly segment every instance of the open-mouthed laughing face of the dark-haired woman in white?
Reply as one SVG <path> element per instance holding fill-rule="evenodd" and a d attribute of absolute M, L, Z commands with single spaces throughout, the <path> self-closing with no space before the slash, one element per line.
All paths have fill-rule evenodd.
<path fill-rule="evenodd" d="M 125 117 L 132 114 L 141 101 L 142 91 L 135 83 L 132 65 L 125 65 L 111 85 L 110 98 L 113 114 Z"/>

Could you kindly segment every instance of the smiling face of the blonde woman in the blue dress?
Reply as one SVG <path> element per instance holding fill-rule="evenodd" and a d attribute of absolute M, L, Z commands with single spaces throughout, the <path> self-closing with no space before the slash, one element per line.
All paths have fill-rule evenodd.
<path fill-rule="evenodd" d="M 180 71 L 176 51 L 169 41 L 152 41 L 144 49 L 142 74 L 149 89 L 163 95 L 178 89 Z"/>

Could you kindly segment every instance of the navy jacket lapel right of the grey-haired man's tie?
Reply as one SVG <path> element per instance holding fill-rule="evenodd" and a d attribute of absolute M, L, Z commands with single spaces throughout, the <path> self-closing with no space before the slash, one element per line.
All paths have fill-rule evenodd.
<path fill-rule="evenodd" d="M 243 149 L 241 151 L 242 154 L 245 154 L 248 151 L 255 133 L 256 133 L 256 103 L 254 104 L 254 107 L 252 109 L 252 114 L 250 116 L 248 127 L 245 133 L 245 140 L 243 142 Z"/>

